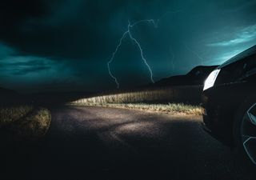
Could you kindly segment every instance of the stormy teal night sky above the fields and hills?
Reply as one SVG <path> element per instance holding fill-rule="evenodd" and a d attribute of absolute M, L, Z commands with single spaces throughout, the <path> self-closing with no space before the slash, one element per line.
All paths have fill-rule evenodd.
<path fill-rule="evenodd" d="M 256 0 L 6 0 L 0 5 L 0 86 L 21 92 L 112 90 L 110 61 L 128 23 L 154 81 L 219 65 L 256 44 Z M 110 70 L 121 88 L 150 83 L 126 36 Z"/>

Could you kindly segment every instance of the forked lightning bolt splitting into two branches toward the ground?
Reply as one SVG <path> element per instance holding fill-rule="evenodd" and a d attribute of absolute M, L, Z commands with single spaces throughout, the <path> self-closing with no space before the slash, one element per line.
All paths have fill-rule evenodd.
<path fill-rule="evenodd" d="M 110 77 L 114 79 L 114 82 L 116 83 L 117 85 L 117 88 L 119 88 L 119 82 L 118 82 L 118 78 L 116 78 L 114 76 L 114 74 L 111 72 L 111 69 L 110 69 L 110 64 L 114 61 L 114 58 L 115 58 L 115 55 L 118 53 L 118 50 L 120 49 L 120 47 L 122 46 L 122 42 L 123 40 L 128 36 L 130 38 L 131 41 L 135 42 L 135 44 L 138 46 L 138 50 L 140 51 L 140 55 L 141 55 L 141 58 L 142 58 L 142 61 L 144 62 L 144 64 L 146 65 L 147 69 L 149 70 L 150 72 L 150 80 L 152 83 L 154 83 L 154 76 L 153 76 L 153 72 L 151 70 L 151 67 L 150 65 L 148 64 L 148 62 L 146 61 L 146 58 L 144 56 L 144 53 L 143 53 L 143 49 L 142 49 L 142 46 L 140 45 L 140 43 L 138 42 L 138 40 L 136 38 L 134 38 L 133 34 L 131 33 L 131 29 L 134 27 L 134 26 L 137 26 L 137 25 L 140 25 L 142 23 L 150 23 L 150 24 L 153 24 L 154 25 L 154 28 L 158 28 L 158 23 L 160 22 L 160 20 L 162 18 L 165 18 L 167 14 L 174 14 L 174 13 L 178 13 L 178 12 L 181 12 L 181 10 L 177 10 L 177 11 L 168 11 L 166 12 L 166 14 L 163 14 L 161 16 L 161 18 L 158 18 L 157 20 L 154 20 L 154 19 L 142 19 L 138 22 L 134 22 L 133 24 L 130 24 L 130 21 L 128 21 L 128 26 L 127 26 L 127 30 L 122 34 L 122 38 L 120 38 L 119 40 L 119 43 L 118 43 L 118 46 L 116 46 L 109 62 L 107 62 L 107 68 L 108 68 L 108 71 L 109 71 L 109 74 L 110 74 Z"/>

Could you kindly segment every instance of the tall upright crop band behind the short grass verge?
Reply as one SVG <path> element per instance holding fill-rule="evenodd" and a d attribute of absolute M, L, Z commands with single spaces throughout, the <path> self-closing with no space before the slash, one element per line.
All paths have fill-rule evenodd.
<path fill-rule="evenodd" d="M 82 98 L 75 101 L 80 104 L 134 103 L 154 102 L 169 103 L 183 102 L 197 104 L 200 102 L 201 86 L 162 87 L 155 90 L 140 90 L 135 92 L 99 95 L 92 98 Z"/>

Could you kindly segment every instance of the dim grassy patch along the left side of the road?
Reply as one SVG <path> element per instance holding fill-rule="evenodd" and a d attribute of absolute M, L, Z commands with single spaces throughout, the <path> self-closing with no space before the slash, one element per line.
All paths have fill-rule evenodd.
<path fill-rule="evenodd" d="M 50 111 L 34 106 L 0 107 L 2 135 L 14 140 L 42 138 L 50 127 Z"/>

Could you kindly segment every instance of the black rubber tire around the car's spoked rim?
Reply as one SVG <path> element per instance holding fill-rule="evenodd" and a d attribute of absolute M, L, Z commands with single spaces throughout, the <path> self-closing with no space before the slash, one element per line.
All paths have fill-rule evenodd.
<path fill-rule="evenodd" d="M 246 115 L 249 112 L 250 108 L 256 106 L 256 96 L 250 96 L 246 98 L 242 105 L 238 108 L 235 116 L 234 116 L 234 126 L 233 126 L 233 136 L 235 143 L 235 156 L 238 158 L 239 162 L 242 164 L 249 165 L 252 167 L 256 167 L 256 157 L 252 158 L 252 155 L 248 152 L 249 150 L 246 148 L 246 143 L 248 143 L 249 136 L 245 136 L 244 133 L 244 124 L 247 123 Z M 256 134 L 256 125 L 255 125 L 255 134 Z M 249 135 L 249 134 L 248 134 Z M 254 139 L 249 139 L 254 140 Z M 256 139 L 255 139 L 256 144 Z M 252 146 L 254 149 L 254 146 Z M 256 152 L 256 148 L 255 148 Z M 256 154 L 255 154 L 256 155 Z"/>

